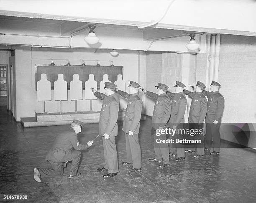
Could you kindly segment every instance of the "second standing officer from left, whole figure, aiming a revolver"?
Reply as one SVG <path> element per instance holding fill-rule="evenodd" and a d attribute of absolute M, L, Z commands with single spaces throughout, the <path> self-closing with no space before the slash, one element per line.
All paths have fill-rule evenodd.
<path fill-rule="evenodd" d="M 138 96 L 140 85 L 130 81 L 129 93 L 118 90 L 117 93 L 128 99 L 125 117 L 123 121 L 123 132 L 125 132 L 126 143 L 126 162 L 123 165 L 133 164 L 133 169 L 129 172 L 141 171 L 141 147 L 138 142 L 138 133 L 140 130 L 140 120 L 142 111 L 142 101 Z"/>

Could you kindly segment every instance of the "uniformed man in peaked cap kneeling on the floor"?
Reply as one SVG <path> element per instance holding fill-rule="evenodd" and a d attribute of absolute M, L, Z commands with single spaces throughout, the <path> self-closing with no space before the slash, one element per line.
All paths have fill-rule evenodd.
<path fill-rule="evenodd" d="M 77 134 L 81 132 L 83 122 L 73 120 L 71 127 L 61 132 L 54 140 L 51 150 L 46 155 L 53 169 L 50 168 L 34 168 L 34 179 L 41 182 L 41 178 L 60 177 L 63 175 L 63 169 L 67 162 L 72 161 L 68 178 L 78 178 L 81 173 L 77 173 L 81 158 L 80 150 L 87 149 L 92 145 L 92 141 L 87 145 L 82 145 L 77 140 Z"/>

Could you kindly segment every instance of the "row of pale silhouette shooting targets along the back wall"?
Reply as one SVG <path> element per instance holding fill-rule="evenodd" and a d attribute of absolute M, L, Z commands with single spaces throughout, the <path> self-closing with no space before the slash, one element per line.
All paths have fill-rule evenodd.
<path fill-rule="evenodd" d="M 125 82 L 123 76 L 118 75 L 117 81 L 114 82 L 118 89 L 125 91 Z M 103 80 L 100 81 L 100 92 L 104 93 L 105 82 L 111 82 L 108 79 L 108 74 L 103 75 Z M 70 81 L 70 100 L 82 99 L 97 99 L 92 93 L 91 88 L 97 89 L 97 81 L 94 80 L 94 75 L 89 74 L 89 79 L 84 84 L 84 96 L 82 81 L 79 80 L 79 75 L 74 74 L 73 80 Z M 54 100 L 64 101 L 68 100 L 67 81 L 64 80 L 63 74 L 58 74 L 58 79 L 54 81 Z M 37 101 L 51 101 L 51 82 L 47 80 L 46 74 L 41 74 L 41 79 L 37 82 Z"/>

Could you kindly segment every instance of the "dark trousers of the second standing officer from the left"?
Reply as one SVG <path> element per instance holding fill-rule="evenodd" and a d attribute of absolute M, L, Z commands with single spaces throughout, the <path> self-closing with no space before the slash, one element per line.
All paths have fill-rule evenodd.
<path fill-rule="evenodd" d="M 141 168 L 141 147 L 138 142 L 138 134 L 125 133 L 126 161 L 133 163 L 133 168 Z"/>

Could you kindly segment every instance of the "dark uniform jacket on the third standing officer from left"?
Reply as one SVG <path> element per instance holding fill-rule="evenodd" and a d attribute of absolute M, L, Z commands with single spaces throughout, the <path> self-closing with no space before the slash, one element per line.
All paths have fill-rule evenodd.
<path fill-rule="evenodd" d="M 158 95 L 154 92 L 146 91 L 146 95 L 156 99 L 152 117 L 152 128 L 159 129 L 159 127 L 167 127 L 167 122 L 171 115 L 170 98 L 166 93 Z"/>

